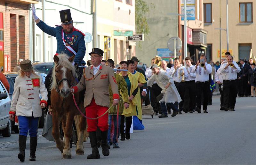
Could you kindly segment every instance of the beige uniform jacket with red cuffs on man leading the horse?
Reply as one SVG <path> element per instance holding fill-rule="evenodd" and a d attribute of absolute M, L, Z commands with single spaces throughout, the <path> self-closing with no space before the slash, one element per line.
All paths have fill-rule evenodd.
<path fill-rule="evenodd" d="M 75 92 L 80 92 L 85 89 L 84 107 L 90 105 L 93 97 L 97 105 L 109 107 L 109 84 L 113 92 L 113 99 L 119 99 L 118 87 L 113 69 L 109 66 L 100 64 L 100 69 L 96 75 L 93 73 L 93 65 L 84 68 L 80 82 L 73 88 Z"/>

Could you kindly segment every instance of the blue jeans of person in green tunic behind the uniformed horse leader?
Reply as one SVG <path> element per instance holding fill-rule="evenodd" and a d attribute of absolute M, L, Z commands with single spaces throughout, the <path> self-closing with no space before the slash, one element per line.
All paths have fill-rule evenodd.
<path fill-rule="evenodd" d="M 111 123 L 112 123 L 112 118 L 113 118 L 113 122 L 115 125 L 115 130 L 114 130 L 114 136 L 113 136 L 113 143 L 116 142 L 116 129 L 117 129 L 117 115 L 108 115 L 108 142 L 110 142 L 111 140 Z M 120 135 L 120 122 L 121 122 L 121 115 L 118 115 L 118 138 Z"/>

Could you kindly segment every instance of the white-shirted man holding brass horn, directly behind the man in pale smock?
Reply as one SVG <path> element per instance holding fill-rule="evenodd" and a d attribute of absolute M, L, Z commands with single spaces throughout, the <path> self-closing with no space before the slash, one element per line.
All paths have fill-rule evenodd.
<path fill-rule="evenodd" d="M 177 70 L 176 70 L 177 69 Z M 176 72 L 175 72 L 176 70 Z M 184 74 L 184 81 L 182 80 L 182 75 Z M 173 76 L 172 76 L 173 75 Z M 184 96 L 185 96 L 185 79 L 188 77 L 187 69 L 180 64 L 179 58 L 174 58 L 174 66 L 171 68 L 170 76 L 172 76 L 174 84 L 180 94 L 182 101 L 179 103 L 179 114 L 182 114 L 183 110 L 185 113 L 188 113 L 188 109 L 183 108 Z"/>

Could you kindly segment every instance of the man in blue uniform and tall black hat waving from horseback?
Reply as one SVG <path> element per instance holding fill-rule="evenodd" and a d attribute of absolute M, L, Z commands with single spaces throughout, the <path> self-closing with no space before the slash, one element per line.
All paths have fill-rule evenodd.
<path fill-rule="evenodd" d="M 36 9 L 34 4 L 32 4 L 32 16 L 36 22 L 36 25 L 46 34 L 56 37 L 57 40 L 57 50 L 56 53 L 65 53 L 68 56 L 75 56 L 74 65 L 86 64 L 83 60 L 85 55 L 85 42 L 84 34 L 77 30 L 73 26 L 73 20 L 71 18 L 70 10 L 60 11 L 60 21 L 62 26 L 51 27 L 46 25 L 42 20 L 36 16 Z M 49 90 L 51 86 L 51 75 L 52 69 L 48 73 L 45 79 L 45 87 L 48 91 L 48 98 L 51 98 L 51 91 Z M 48 106 L 51 105 L 51 99 L 48 99 Z M 50 108 L 51 109 L 51 108 Z M 52 110 L 52 109 L 51 109 Z M 50 110 L 50 111 L 51 111 Z"/>

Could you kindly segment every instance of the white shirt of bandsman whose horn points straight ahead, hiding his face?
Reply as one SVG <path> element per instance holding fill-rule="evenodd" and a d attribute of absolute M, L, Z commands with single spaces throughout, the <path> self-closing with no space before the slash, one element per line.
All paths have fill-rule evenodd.
<path fill-rule="evenodd" d="M 196 82 L 205 82 L 209 81 L 209 74 L 212 73 L 212 66 L 210 64 L 205 63 L 206 70 L 200 65 L 197 68 L 192 69 L 192 73 L 196 73 Z"/>

